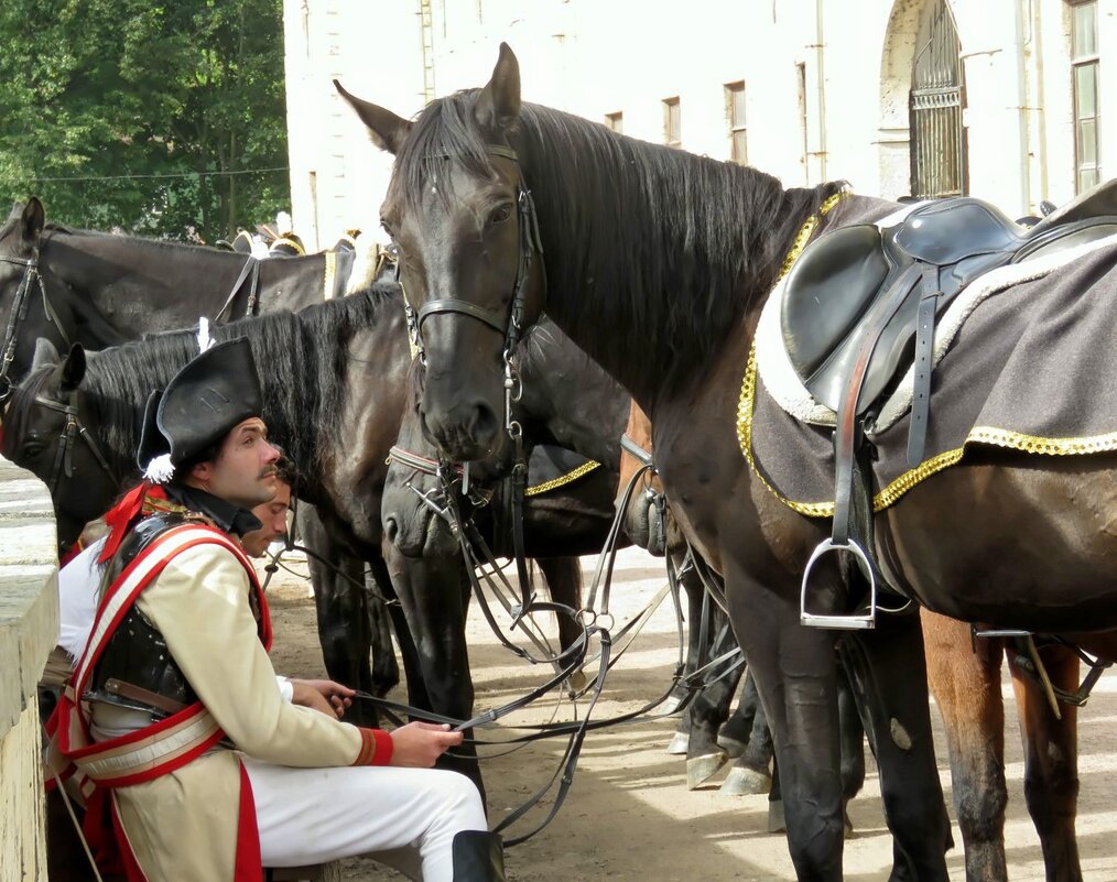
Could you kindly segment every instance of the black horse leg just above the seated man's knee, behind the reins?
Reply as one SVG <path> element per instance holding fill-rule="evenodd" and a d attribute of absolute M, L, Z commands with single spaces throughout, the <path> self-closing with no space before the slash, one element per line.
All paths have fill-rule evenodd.
<path fill-rule="evenodd" d="M 391 572 L 390 584 L 409 624 L 408 633 L 418 641 L 414 663 L 419 671 L 414 675 L 426 686 L 426 707 L 454 719 L 469 719 L 474 713 L 474 682 L 466 648 L 469 584 L 461 558 L 404 557 L 390 541 L 384 543 L 384 557 Z M 412 673 L 405 653 L 403 661 L 410 686 Z M 465 735 L 472 738 L 472 729 Z M 484 799 L 476 748 L 457 747 L 443 754 L 439 766 L 470 777 Z"/>

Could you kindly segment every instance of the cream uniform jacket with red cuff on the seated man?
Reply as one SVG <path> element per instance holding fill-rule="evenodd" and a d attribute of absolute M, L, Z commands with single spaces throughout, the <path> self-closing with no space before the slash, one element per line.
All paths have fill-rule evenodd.
<path fill-rule="evenodd" d="M 160 778 L 113 790 L 127 842 L 152 882 L 233 879 L 240 751 L 299 767 L 390 759 L 383 732 L 284 700 L 260 643 L 250 591 L 248 573 L 231 552 L 201 545 L 179 553 L 136 601 L 237 748 L 214 748 Z M 96 725 L 95 711 L 95 738 Z"/>

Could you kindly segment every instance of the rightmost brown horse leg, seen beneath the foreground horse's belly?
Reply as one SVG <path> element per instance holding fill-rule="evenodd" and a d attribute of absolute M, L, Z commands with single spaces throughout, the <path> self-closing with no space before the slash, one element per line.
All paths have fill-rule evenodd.
<path fill-rule="evenodd" d="M 1051 683 L 1078 688 L 1078 654 L 1066 646 L 1040 650 Z M 1024 796 L 1043 846 L 1048 882 L 1081 882 L 1075 815 L 1078 807 L 1078 708 L 1060 704 L 1057 720 L 1044 690 L 1016 664 L 1009 648 L 1012 687 L 1016 693 L 1020 734 L 1024 742 Z"/>

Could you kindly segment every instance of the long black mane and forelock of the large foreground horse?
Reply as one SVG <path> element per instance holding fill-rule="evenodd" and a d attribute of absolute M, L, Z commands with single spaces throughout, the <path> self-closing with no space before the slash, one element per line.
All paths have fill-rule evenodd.
<path fill-rule="evenodd" d="M 413 210 L 445 162 L 495 180 L 478 95 L 460 92 L 422 112 L 397 156 L 391 201 Z M 624 363 L 670 361 L 680 373 L 703 363 L 752 298 L 770 290 L 803 221 L 843 185 L 785 190 L 755 169 L 532 104 L 508 141 L 540 215 L 548 304 L 576 298 L 577 324 L 611 329 L 610 347 Z M 440 176 L 447 200 L 450 186 Z M 617 333 L 621 315 L 629 326 Z M 649 352 L 653 342 L 659 352 Z"/>

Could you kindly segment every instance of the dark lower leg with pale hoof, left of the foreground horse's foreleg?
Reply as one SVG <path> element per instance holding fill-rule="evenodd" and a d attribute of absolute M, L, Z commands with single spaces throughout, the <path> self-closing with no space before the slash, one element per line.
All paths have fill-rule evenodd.
<path fill-rule="evenodd" d="M 706 664 L 737 645 L 725 613 L 717 604 L 710 603 L 707 611 L 709 633 L 713 635 L 709 651 L 699 664 Z M 717 731 L 729 716 L 729 702 L 737 690 L 742 665 L 726 673 L 735 664 L 733 659 L 707 672 L 714 680 L 690 702 L 690 737 L 687 741 L 687 789 L 700 787 L 728 763 L 729 755 L 717 742 Z"/>

